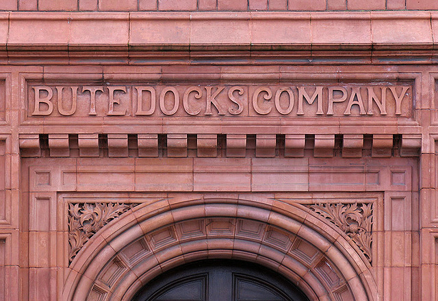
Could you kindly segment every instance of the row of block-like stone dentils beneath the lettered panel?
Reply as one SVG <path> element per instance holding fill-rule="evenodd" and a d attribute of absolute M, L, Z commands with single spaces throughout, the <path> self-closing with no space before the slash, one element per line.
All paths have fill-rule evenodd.
<path fill-rule="evenodd" d="M 196 134 L 196 143 L 189 147 L 188 134 L 131 134 L 133 142 L 129 144 L 128 134 L 62 134 L 49 135 L 49 149 L 51 157 L 77 156 L 70 154 L 72 146 L 69 146 L 70 139 L 77 139 L 80 157 L 244 157 L 255 156 L 260 158 L 274 157 L 304 157 L 306 143 L 307 148 L 313 147 L 315 158 L 333 157 L 334 150 L 340 149 L 335 145 L 335 134 L 256 134 L 255 152 L 254 146 L 248 143 L 248 134 Z M 193 134 L 192 136 L 195 136 Z M 393 134 L 372 134 L 372 144 L 364 143 L 364 134 L 339 134 L 343 139 L 342 157 L 387 157 L 391 156 L 392 149 L 397 149 L 396 156 L 417 157 L 420 155 L 421 134 L 396 135 L 401 143 L 394 145 Z M 44 135 L 31 134 L 21 135 L 22 156 L 44 156 L 41 149 L 46 147 L 40 144 Z M 162 143 L 159 143 L 160 138 Z M 226 143 L 220 143 L 220 139 L 226 139 Z M 225 142 L 225 139 L 223 142 Z M 68 148 L 70 147 L 70 149 Z M 226 148 L 227 152 L 220 152 Z M 99 149 L 106 152 L 99 154 Z M 130 153 L 130 149 L 137 149 L 138 152 Z M 188 152 L 189 149 L 196 149 L 196 152 Z M 369 152 L 363 154 L 363 149 Z M 166 152 L 164 152 L 166 150 Z M 247 151 L 248 154 L 247 154 Z M 278 151 L 278 152 L 277 152 Z M 371 152 L 372 151 L 372 152 Z M 308 154 L 309 155 L 309 154 Z"/>

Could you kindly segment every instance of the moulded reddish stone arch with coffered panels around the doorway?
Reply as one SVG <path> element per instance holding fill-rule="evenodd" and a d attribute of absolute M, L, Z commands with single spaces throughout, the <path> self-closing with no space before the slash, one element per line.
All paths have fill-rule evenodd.
<path fill-rule="evenodd" d="M 310 300 L 377 300 L 366 258 L 305 206 L 220 198 L 160 200 L 121 215 L 77 254 L 64 300 L 129 300 L 167 269 L 207 258 L 259 263 Z"/>

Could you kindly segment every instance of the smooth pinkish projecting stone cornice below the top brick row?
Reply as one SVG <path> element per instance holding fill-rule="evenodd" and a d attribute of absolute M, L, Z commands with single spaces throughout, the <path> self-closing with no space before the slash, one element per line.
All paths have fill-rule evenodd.
<path fill-rule="evenodd" d="M 422 50 L 438 12 L 3 12 L 8 51 Z M 302 53 L 305 56 L 306 53 Z"/>

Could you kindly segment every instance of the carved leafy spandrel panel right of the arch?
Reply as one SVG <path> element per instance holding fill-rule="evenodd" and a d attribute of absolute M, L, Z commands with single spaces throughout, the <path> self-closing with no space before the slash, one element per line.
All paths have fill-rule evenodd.
<path fill-rule="evenodd" d="M 372 262 L 372 204 L 314 204 L 309 208 L 344 231 Z"/>

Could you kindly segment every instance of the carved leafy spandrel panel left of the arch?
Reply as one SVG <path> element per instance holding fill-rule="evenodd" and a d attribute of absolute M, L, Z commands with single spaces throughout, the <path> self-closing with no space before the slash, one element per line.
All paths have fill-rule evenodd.
<path fill-rule="evenodd" d="M 77 252 L 97 231 L 136 205 L 120 203 L 68 204 L 69 262 L 73 261 Z"/>

